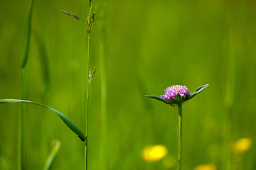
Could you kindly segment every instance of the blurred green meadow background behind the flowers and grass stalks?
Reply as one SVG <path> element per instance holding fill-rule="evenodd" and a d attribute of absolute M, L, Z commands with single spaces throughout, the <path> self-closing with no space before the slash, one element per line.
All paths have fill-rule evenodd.
<path fill-rule="evenodd" d="M 35 1 L 25 71 L 25 99 L 64 113 L 84 132 L 88 3 Z M 19 98 L 29 5 L 0 1 L 0 98 Z M 252 140 L 240 162 L 232 158 L 232 169 L 256 169 L 255 7 L 250 0 L 93 1 L 90 69 L 97 71 L 90 84 L 88 168 L 104 169 L 107 160 L 109 169 L 176 169 L 178 109 L 144 95 L 160 96 L 176 84 L 191 92 L 210 84 L 183 105 L 183 169 L 198 164 L 222 169 L 227 113 L 230 142 Z M 60 10 L 75 13 L 80 21 Z M 102 154 L 100 116 L 100 21 L 107 66 L 107 156 Z M 26 169 L 43 169 L 54 139 L 61 145 L 52 169 L 83 169 L 85 143 L 51 111 L 24 106 Z M 165 145 L 168 156 L 145 162 L 147 145 Z M 17 147 L 18 103 L 1 104 L 0 169 L 17 169 Z M 171 158 L 174 166 L 166 166 Z"/>

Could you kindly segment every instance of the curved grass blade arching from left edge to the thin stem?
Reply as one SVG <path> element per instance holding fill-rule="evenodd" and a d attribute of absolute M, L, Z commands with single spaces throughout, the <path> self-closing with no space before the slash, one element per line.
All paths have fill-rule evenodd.
<path fill-rule="evenodd" d="M 42 106 L 44 108 L 49 108 L 53 112 L 55 112 L 63 122 L 68 125 L 68 128 L 75 132 L 75 134 L 78 135 L 78 137 L 82 140 L 82 142 L 85 141 L 85 135 L 82 133 L 82 131 L 78 128 L 75 123 L 73 123 L 67 116 L 63 115 L 63 113 L 60 113 L 59 111 L 56 111 L 53 108 L 50 108 L 49 106 L 43 105 L 41 103 L 33 102 L 33 101 L 26 101 L 26 100 L 18 100 L 18 99 L 0 99 L 0 103 L 18 103 L 18 102 L 25 102 L 25 103 L 31 103 L 34 105 Z"/>

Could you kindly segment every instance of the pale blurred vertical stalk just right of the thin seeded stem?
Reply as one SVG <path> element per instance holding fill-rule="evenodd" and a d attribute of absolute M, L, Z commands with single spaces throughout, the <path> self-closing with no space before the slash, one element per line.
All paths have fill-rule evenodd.
<path fill-rule="evenodd" d="M 97 21 L 100 30 L 100 118 L 101 118 L 101 132 L 102 132 L 102 170 L 108 169 L 108 150 L 107 150 L 107 70 L 106 70 L 106 57 L 105 57 L 105 34 L 104 34 L 104 21 L 105 21 L 105 1 L 100 2 L 100 17 Z"/>

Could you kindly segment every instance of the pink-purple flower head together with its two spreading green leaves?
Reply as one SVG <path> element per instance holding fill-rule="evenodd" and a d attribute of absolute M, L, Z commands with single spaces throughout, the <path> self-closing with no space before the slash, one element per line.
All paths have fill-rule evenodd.
<path fill-rule="evenodd" d="M 197 94 L 199 94 L 203 89 L 206 89 L 208 84 L 198 87 L 196 91 L 191 94 L 191 92 L 188 91 L 188 88 L 186 86 L 176 85 L 176 86 L 169 86 L 165 90 L 165 94 L 159 96 L 148 96 L 150 98 L 154 98 L 158 101 L 162 101 L 166 104 L 169 104 L 171 106 L 174 106 L 174 104 L 183 103 L 183 101 L 188 101 L 189 99 L 193 98 Z"/>

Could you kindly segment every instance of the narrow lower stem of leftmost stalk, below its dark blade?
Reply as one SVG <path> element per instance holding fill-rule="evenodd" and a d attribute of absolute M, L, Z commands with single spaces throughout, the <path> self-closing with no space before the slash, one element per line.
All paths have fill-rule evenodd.
<path fill-rule="evenodd" d="M 21 69 L 21 84 L 20 84 L 20 99 L 23 99 L 23 73 Z M 23 169 L 23 108 L 22 103 L 19 104 L 18 109 L 18 170 Z"/>

